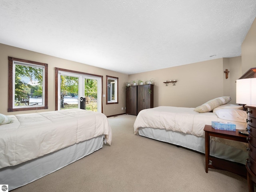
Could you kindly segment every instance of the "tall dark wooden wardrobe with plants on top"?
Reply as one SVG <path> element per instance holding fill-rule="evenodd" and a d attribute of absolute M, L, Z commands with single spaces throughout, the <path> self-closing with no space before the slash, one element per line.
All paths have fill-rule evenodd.
<path fill-rule="evenodd" d="M 143 109 L 153 108 L 154 85 L 126 87 L 126 114 L 138 115 Z"/>

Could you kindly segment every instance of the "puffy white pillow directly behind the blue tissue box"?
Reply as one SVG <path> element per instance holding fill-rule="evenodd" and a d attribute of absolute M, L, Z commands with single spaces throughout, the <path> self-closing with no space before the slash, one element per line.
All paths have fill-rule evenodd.
<path fill-rule="evenodd" d="M 239 109 L 220 109 L 216 111 L 216 115 L 220 119 L 246 123 L 246 111 Z"/>

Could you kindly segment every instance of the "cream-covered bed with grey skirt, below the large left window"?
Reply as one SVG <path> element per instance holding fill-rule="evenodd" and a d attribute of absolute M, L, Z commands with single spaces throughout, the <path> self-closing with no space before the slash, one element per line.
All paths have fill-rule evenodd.
<path fill-rule="evenodd" d="M 67 109 L 9 117 L 13 122 L 0 126 L 0 184 L 9 184 L 9 190 L 102 148 L 103 140 L 108 145 L 112 141 L 107 117 L 99 112 Z M 36 170 L 38 163 L 46 163 L 52 168 L 48 170 L 42 166 L 38 173 L 32 173 L 31 166 L 35 165 L 33 169 Z M 25 173 L 22 172 L 24 167 Z M 42 175 L 45 169 L 46 174 Z M 28 175 L 29 179 L 17 184 L 24 176 L 14 179 L 16 173 Z M 34 176 L 30 178 L 30 174 Z"/>

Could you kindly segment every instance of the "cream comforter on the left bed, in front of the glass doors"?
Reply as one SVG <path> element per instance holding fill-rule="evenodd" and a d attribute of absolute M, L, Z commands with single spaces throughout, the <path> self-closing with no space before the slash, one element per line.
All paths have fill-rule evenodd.
<path fill-rule="evenodd" d="M 0 168 L 13 166 L 61 148 L 105 135 L 111 144 L 112 130 L 99 112 L 67 109 L 10 115 L 14 122 L 0 126 Z"/>

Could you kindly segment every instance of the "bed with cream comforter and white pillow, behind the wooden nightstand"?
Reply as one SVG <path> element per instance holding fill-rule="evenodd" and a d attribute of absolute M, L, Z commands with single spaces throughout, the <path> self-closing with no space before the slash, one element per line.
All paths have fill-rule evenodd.
<path fill-rule="evenodd" d="M 231 122 L 236 129 L 246 129 L 247 114 L 226 104 L 214 112 L 196 112 L 195 108 L 159 106 L 139 112 L 134 134 L 183 146 L 205 153 L 204 126 L 212 121 Z M 210 155 L 245 164 L 247 143 L 211 137 Z"/>

